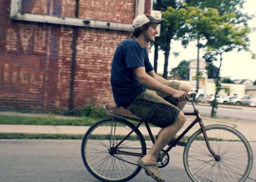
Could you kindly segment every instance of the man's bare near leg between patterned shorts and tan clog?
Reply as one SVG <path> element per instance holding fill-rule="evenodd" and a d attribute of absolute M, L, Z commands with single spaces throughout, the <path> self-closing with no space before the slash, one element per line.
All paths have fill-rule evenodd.
<path fill-rule="evenodd" d="M 166 128 L 162 128 L 159 132 L 158 139 L 156 140 L 155 144 L 152 146 L 150 151 L 143 156 L 142 161 L 144 163 L 154 163 L 160 151 L 167 145 L 168 142 L 175 136 L 175 134 L 181 129 L 184 125 L 185 116 L 182 111 L 180 111 L 179 115 L 177 116 L 174 124 L 167 126 Z"/>

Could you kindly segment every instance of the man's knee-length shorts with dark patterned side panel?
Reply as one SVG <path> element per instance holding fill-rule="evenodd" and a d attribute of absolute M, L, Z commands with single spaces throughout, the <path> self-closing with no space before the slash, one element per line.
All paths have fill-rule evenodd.
<path fill-rule="evenodd" d="M 167 85 L 179 90 L 180 83 L 169 82 Z M 176 105 L 177 100 L 172 96 L 146 90 L 133 99 L 127 109 L 142 120 L 165 128 L 173 124 L 180 113 Z"/>

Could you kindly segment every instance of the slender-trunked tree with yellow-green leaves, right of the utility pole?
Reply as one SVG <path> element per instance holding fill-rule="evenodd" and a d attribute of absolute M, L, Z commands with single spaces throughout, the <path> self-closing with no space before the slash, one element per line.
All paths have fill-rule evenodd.
<path fill-rule="evenodd" d="M 250 31 L 245 23 L 236 24 L 232 21 L 233 18 L 236 18 L 235 13 L 220 15 L 216 9 L 210 8 L 207 11 L 209 11 L 205 14 L 205 19 L 208 19 L 205 21 L 207 28 L 205 30 L 201 29 L 201 33 L 207 40 L 205 44 L 207 46 L 207 53 L 204 55 L 205 60 L 210 63 L 220 57 L 220 66 L 218 67 L 217 79 L 215 80 L 215 95 L 217 95 L 221 87 L 220 70 L 223 60 L 222 54 L 234 49 L 249 51 L 248 34 Z M 215 109 L 218 104 L 216 99 L 211 104 L 211 116 L 215 116 Z"/>

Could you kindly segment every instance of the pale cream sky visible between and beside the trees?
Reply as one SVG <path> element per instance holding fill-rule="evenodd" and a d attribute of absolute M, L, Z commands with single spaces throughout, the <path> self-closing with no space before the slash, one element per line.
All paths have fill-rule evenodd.
<path fill-rule="evenodd" d="M 243 12 L 253 15 L 255 14 L 256 1 L 246 0 L 243 7 Z M 249 27 L 256 27 L 256 17 L 250 20 Z M 256 53 L 256 31 L 249 34 L 250 39 L 250 50 Z M 173 41 L 173 40 L 172 40 Z M 179 52 L 178 57 L 174 57 L 173 52 Z M 200 58 L 203 56 L 203 50 L 200 50 Z M 150 50 L 150 62 L 154 65 L 154 48 Z M 241 51 L 237 52 L 233 50 L 232 52 L 222 54 L 222 69 L 221 77 L 229 77 L 230 79 L 251 79 L 251 81 L 256 80 L 256 60 L 251 59 L 249 52 Z M 173 41 L 171 44 L 171 55 L 169 58 L 168 71 L 176 67 L 182 60 L 195 60 L 197 58 L 197 48 L 196 42 L 190 43 L 187 48 L 181 46 L 180 41 Z M 214 64 L 218 67 L 220 62 L 214 61 Z M 164 54 L 162 51 L 159 52 L 158 59 L 158 73 L 163 73 L 164 65 Z"/>

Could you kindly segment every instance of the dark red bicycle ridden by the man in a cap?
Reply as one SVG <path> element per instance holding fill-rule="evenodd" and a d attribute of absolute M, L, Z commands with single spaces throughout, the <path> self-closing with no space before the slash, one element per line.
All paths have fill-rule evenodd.
<path fill-rule="evenodd" d="M 182 132 L 167 149 L 158 156 L 158 167 L 165 167 L 170 156 L 168 152 L 187 132 L 199 123 L 200 129 L 189 136 L 184 148 L 183 163 L 192 181 L 245 181 L 253 166 L 253 153 L 247 139 L 236 129 L 225 125 L 208 125 L 200 117 L 195 101 L 199 92 L 189 92 L 195 120 Z M 140 118 L 118 115 L 104 108 L 110 117 L 90 126 L 82 139 L 81 155 L 87 170 L 98 180 L 108 182 L 127 181 L 135 177 L 141 167 L 138 157 L 147 153 L 142 127 L 148 133 L 146 139 L 155 143 L 155 138 L 147 122 Z"/>

